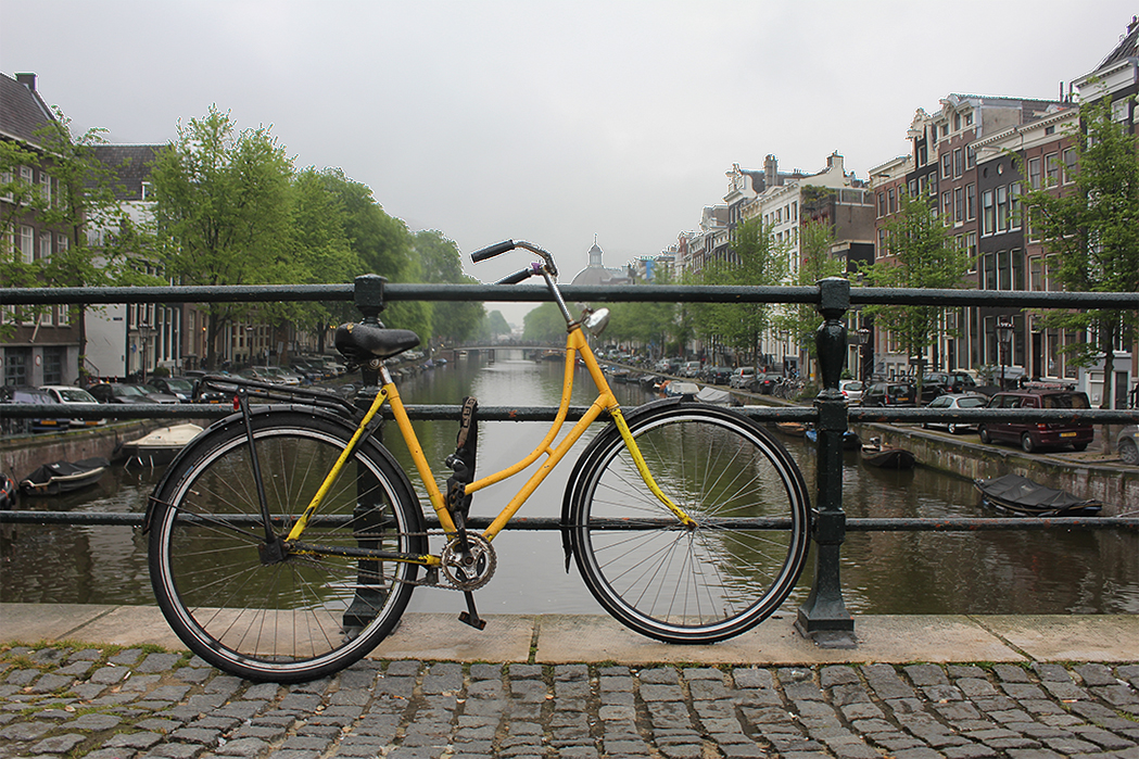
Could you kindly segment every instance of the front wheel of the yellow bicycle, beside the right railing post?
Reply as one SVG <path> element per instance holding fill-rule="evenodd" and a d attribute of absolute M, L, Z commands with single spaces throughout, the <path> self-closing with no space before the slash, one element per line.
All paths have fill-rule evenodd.
<path fill-rule="evenodd" d="M 775 612 L 810 548 L 810 499 L 787 450 L 756 424 L 681 403 L 634 415 L 630 430 L 685 528 L 649 492 L 615 429 L 571 484 L 571 547 L 614 618 L 667 643 L 714 643 Z"/>

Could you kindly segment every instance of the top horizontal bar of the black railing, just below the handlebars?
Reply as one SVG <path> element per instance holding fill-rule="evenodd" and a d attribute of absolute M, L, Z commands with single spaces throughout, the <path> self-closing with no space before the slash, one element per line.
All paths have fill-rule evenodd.
<path fill-rule="evenodd" d="M 686 303 L 817 303 L 818 286 L 772 287 L 748 285 L 563 285 L 567 302 L 686 302 Z M 352 284 L 327 285 L 215 285 L 169 287 L 3 287 L 0 303 L 34 305 L 57 303 L 211 303 L 277 301 L 352 301 Z M 541 285 L 454 285 L 390 283 L 391 301 L 541 302 L 552 296 Z M 990 305 L 1013 308 L 1079 308 L 1139 310 L 1139 293 L 1001 292 L 992 289 L 924 289 L 851 287 L 853 305 Z"/>

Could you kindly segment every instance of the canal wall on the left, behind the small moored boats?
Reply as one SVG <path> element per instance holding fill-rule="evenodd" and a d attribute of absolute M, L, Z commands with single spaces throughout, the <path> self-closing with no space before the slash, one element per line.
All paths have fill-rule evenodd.
<path fill-rule="evenodd" d="M 43 464 L 112 458 L 128 440 L 163 426 L 154 419 L 108 423 L 101 427 L 0 438 L 0 472 L 19 481 Z"/>

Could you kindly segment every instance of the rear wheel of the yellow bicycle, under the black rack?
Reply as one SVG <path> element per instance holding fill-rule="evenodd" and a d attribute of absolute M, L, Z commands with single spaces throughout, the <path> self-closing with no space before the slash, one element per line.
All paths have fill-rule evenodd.
<path fill-rule="evenodd" d="M 254 413 L 251 423 L 280 534 L 309 505 L 352 430 L 325 415 L 282 410 Z M 155 597 L 179 638 L 219 669 L 279 683 L 325 677 L 375 648 L 407 607 L 416 564 L 319 550 L 262 563 L 264 528 L 240 417 L 175 460 L 155 499 L 148 546 Z M 426 550 L 415 490 L 371 440 L 353 452 L 303 540 Z"/>

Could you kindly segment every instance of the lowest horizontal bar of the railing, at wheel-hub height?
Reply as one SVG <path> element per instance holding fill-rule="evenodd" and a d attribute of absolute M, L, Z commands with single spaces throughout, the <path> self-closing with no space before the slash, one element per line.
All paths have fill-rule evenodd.
<path fill-rule="evenodd" d="M 219 515 L 235 524 L 260 524 L 255 516 Z M 13 512 L 0 511 L 0 523 L 8 524 L 69 524 L 69 525 L 118 525 L 141 527 L 142 514 L 130 512 Z M 472 516 L 467 527 L 482 530 L 490 527 L 492 519 Z M 778 528 L 780 521 L 756 521 L 757 529 Z M 439 520 L 426 520 L 427 529 L 441 529 Z M 560 530 L 562 520 L 554 516 L 516 516 L 507 529 L 528 531 Z M 846 530 L 851 532 L 975 532 L 991 530 L 1137 530 L 1139 516 L 994 516 L 994 517 L 915 517 L 915 519 L 858 519 L 847 517 Z"/>

